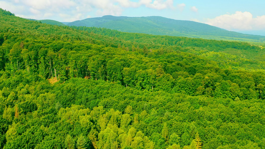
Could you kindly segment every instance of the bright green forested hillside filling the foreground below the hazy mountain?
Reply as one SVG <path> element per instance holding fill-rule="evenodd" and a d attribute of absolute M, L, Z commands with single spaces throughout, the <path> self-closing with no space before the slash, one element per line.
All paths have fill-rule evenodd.
<path fill-rule="evenodd" d="M 0 9 L 0 148 L 264 149 L 264 57 Z"/>

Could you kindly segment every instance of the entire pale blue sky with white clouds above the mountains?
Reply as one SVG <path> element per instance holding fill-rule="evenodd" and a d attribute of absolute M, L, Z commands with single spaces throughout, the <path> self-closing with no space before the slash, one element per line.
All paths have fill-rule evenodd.
<path fill-rule="evenodd" d="M 265 0 L 0 0 L 16 16 L 72 22 L 103 15 L 163 16 L 230 31 L 265 31 Z"/>

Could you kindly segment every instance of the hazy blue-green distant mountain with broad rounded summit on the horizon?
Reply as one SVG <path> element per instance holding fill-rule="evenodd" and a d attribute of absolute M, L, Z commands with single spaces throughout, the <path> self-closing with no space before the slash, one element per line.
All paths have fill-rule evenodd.
<path fill-rule="evenodd" d="M 122 32 L 184 36 L 216 40 L 265 41 L 265 36 L 242 34 L 194 21 L 161 16 L 126 17 L 106 15 L 70 22 L 69 26 L 104 27 Z"/>

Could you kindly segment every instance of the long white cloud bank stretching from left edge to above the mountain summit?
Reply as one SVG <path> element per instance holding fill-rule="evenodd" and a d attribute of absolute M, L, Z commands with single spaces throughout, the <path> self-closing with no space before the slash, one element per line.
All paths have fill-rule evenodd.
<path fill-rule="evenodd" d="M 94 16 L 122 14 L 124 8 L 148 7 L 151 9 L 173 9 L 174 0 L 0 0 L 0 7 L 17 16 L 33 19 L 75 21 Z M 180 5 L 184 7 L 185 5 Z"/>

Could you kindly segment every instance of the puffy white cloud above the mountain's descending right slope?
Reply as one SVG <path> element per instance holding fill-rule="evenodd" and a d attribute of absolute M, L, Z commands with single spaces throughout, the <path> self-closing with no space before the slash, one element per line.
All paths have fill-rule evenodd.
<path fill-rule="evenodd" d="M 227 30 L 263 30 L 265 15 L 254 18 L 250 12 L 237 11 L 234 14 L 224 14 L 208 19 L 206 23 Z"/>

